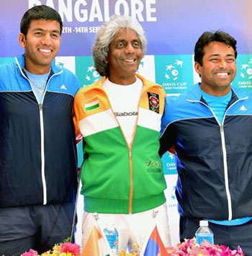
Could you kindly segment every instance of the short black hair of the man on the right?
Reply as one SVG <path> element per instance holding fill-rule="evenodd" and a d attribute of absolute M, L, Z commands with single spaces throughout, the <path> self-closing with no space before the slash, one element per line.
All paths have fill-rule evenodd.
<path fill-rule="evenodd" d="M 236 40 L 234 37 L 221 30 L 214 32 L 206 31 L 199 37 L 194 48 L 194 61 L 199 63 L 200 66 L 203 65 L 204 46 L 211 42 L 220 42 L 229 45 L 235 50 L 235 58 L 237 57 Z"/>

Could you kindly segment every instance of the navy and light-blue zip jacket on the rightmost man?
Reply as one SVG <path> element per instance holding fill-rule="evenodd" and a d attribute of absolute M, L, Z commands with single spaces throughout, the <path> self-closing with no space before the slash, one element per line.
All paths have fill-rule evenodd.
<path fill-rule="evenodd" d="M 231 88 L 222 123 L 202 99 L 199 84 L 166 97 L 160 154 L 175 149 L 182 216 L 220 221 L 252 216 L 252 97 Z"/>

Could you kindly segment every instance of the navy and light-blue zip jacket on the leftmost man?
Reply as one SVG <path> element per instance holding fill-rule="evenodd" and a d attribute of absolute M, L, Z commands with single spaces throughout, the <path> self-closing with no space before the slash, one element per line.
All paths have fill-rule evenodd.
<path fill-rule="evenodd" d="M 79 81 L 53 61 L 38 104 L 22 69 L 24 56 L 0 66 L 0 207 L 73 201 Z"/>

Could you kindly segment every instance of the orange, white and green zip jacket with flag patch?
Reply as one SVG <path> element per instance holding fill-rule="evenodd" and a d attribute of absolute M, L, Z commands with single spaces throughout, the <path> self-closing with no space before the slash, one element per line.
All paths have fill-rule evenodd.
<path fill-rule="evenodd" d="M 130 145 L 102 87 L 106 77 L 76 94 L 76 136 L 84 138 L 87 156 L 81 169 L 81 194 L 87 212 L 138 213 L 166 201 L 158 155 L 166 93 L 158 84 L 137 76 L 143 89 Z"/>

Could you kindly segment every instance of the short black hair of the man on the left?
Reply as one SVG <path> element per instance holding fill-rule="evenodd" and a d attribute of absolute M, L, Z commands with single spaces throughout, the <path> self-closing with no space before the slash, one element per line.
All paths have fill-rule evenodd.
<path fill-rule="evenodd" d="M 32 20 L 37 19 L 56 20 L 60 24 L 61 35 L 63 23 L 60 14 L 46 5 L 33 6 L 24 13 L 20 22 L 20 32 L 26 36 Z"/>

